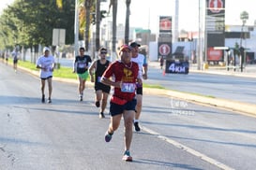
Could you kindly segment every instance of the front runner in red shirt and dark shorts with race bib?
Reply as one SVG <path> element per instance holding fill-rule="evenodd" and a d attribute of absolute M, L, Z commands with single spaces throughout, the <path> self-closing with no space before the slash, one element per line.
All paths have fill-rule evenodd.
<path fill-rule="evenodd" d="M 105 134 L 105 141 L 110 142 L 113 132 L 119 127 L 123 116 L 125 123 L 125 153 L 123 160 L 132 161 L 129 148 L 132 139 L 135 106 L 137 103 L 135 99 L 136 82 L 142 83 L 142 79 L 138 78 L 138 64 L 131 62 L 131 48 L 128 45 L 123 45 L 119 51 L 119 55 L 121 61 L 111 64 L 101 78 L 102 83 L 114 87 L 110 102 L 112 118 L 108 131 Z"/>

